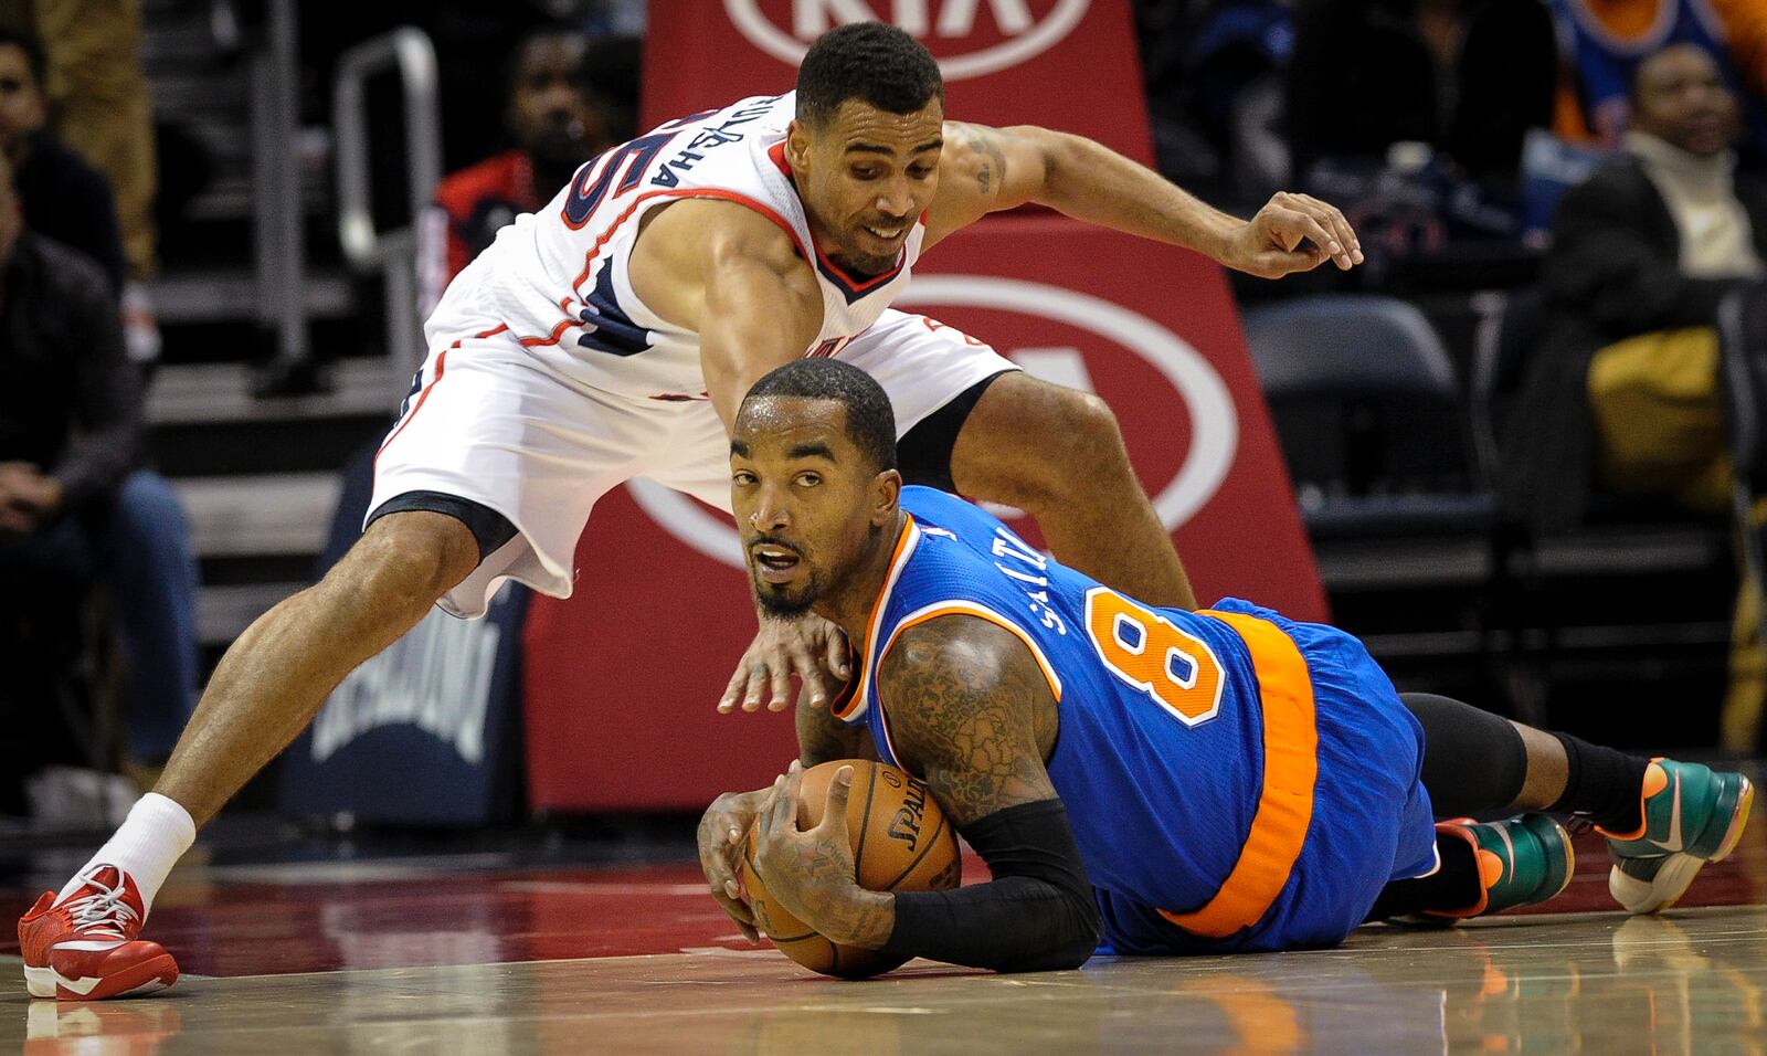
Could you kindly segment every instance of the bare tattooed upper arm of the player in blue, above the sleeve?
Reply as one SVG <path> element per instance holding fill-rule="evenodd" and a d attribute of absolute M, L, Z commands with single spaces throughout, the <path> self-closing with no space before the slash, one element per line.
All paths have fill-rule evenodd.
<path fill-rule="evenodd" d="M 880 690 L 898 756 L 956 825 L 1055 796 L 1039 749 L 1039 713 L 1055 713 L 1039 706 L 1050 687 L 1005 630 L 963 616 L 912 627 Z"/>

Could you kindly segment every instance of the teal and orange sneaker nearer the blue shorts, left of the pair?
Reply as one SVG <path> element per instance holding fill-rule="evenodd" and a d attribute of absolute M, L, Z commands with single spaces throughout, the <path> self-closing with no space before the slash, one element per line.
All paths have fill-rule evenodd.
<path fill-rule="evenodd" d="M 1505 821 L 1438 821 L 1437 837 L 1472 844 L 1479 862 L 1479 901 L 1463 909 L 1428 909 L 1426 918 L 1461 920 L 1534 906 L 1571 883 L 1576 856 L 1571 833 L 1550 814 L 1518 814 Z"/>

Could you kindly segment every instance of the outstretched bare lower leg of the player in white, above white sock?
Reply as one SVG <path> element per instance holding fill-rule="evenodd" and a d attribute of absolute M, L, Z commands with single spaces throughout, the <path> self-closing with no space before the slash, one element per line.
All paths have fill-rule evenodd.
<path fill-rule="evenodd" d="M 369 524 L 325 579 L 233 643 L 154 791 L 207 823 L 313 722 L 345 675 L 403 637 L 477 563 L 472 532 L 447 514 Z"/>

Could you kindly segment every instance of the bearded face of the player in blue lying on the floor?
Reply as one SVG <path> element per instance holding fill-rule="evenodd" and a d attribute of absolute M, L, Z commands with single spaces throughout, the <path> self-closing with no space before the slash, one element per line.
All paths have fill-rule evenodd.
<path fill-rule="evenodd" d="M 885 475 L 845 427 L 846 408 L 829 399 L 760 397 L 737 417 L 730 509 L 770 613 L 802 613 L 841 592 L 892 523 L 894 489 L 880 487 Z"/>

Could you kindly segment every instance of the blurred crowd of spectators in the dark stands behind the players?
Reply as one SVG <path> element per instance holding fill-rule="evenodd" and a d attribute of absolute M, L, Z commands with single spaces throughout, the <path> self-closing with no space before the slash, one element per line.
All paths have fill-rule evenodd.
<path fill-rule="evenodd" d="M 254 5 L 240 7 L 249 23 Z M 300 11 L 318 83 L 343 48 L 396 25 L 438 48 L 452 171 L 417 217 L 424 305 L 509 219 L 638 131 L 641 2 L 394 2 L 360 19 L 325 7 Z M 159 348 L 143 283 L 159 267 L 155 217 L 201 159 L 171 150 L 155 166 L 133 0 L 5 11 L 0 579 L 14 604 L 0 650 L 42 660 L 48 643 L 87 641 L 97 588 L 125 660 L 124 754 L 152 772 L 194 705 L 198 653 L 189 535 L 145 468 L 141 392 Z M 1134 12 L 1168 177 L 1230 208 L 1308 191 L 1361 233 L 1366 268 L 1265 295 L 1403 293 L 1421 274 L 1433 288 L 1539 290 L 1541 336 L 1507 440 L 1527 452 L 1505 459 L 1516 517 L 1553 530 L 1601 489 L 1723 507 L 1712 321 L 1767 260 L 1767 5 L 1141 0 Z M 505 92 L 486 88 L 489 67 Z M 304 101 L 309 120 L 318 95 Z M 155 207 L 157 184 L 171 191 Z M 1748 747 L 1767 678 L 1753 592 L 1735 620 L 1732 696 L 1756 719 L 1732 747 Z M 64 682 L 14 678 L 0 692 L 21 713 Z M 5 751 L 85 752 L 44 743 Z M 32 758 L 0 759 L 0 772 Z M 25 811 L 21 796 L 0 781 L 0 814 Z"/>

